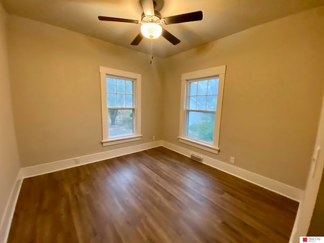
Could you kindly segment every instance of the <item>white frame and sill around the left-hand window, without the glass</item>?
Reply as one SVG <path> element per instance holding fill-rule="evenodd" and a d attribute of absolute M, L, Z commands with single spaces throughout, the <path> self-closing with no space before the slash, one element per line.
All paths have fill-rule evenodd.
<path fill-rule="evenodd" d="M 142 75 L 133 72 L 127 72 L 108 67 L 100 67 L 100 81 L 101 81 L 101 112 L 102 112 L 102 145 L 114 145 L 119 143 L 127 143 L 142 139 L 141 134 L 141 78 Z M 134 97 L 134 134 L 123 135 L 118 137 L 108 137 L 108 107 L 107 107 L 107 76 L 115 76 L 124 79 L 132 80 L 133 83 L 133 97 Z"/>

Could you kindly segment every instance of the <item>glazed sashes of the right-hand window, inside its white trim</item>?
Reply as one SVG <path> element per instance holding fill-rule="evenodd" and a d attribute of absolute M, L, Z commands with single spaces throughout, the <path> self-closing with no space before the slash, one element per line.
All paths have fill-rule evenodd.
<path fill-rule="evenodd" d="M 213 143 L 218 85 L 218 76 L 187 80 L 186 137 Z"/>

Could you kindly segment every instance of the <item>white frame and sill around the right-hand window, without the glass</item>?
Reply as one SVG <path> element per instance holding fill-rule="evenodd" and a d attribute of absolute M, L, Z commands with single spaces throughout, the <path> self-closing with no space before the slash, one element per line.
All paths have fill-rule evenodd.
<path fill-rule="evenodd" d="M 226 65 L 198 70 L 193 72 L 183 73 L 181 76 L 181 106 L 180 106 L 180 128 L 179 128 L 179 142 L 185 143 L 212 153 L 218 154 L 219 148 L 219 133 L 221 126 L 221 114 L 223 104 L 224 82 L 226 74 Z M 217 108 L 215 111 L 214 135 L 213 142 L 209 143 L 203 140 L 195 139 L 186 136 L 186 123 L 187 123 L 187 102 L 188 102 L 188 87 L 190 80 L 203 79 L 218 76 L 218 96 Z"/>

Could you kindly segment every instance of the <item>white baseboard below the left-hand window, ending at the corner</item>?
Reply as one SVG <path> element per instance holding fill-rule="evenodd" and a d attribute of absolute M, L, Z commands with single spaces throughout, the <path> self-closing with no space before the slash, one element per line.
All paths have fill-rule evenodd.
<path fill-rule="evenodd" d="M 68 158 L 63 159 L 59 161 L 54 161 L 47 164 L 37 165 L 37 166 L 30 166 L 30 167 L 24 167 L 21 168 L 21 178 L 28 178 L 38 175 L 43 175 L 55 171 L 65 170 L 72 167 L 82 166 L 90 163 L 94 163 L 100 160 L 118 157 L 130 153 L 139 152 L 142 150 L 154 148 L 161 146 L 162 141 L 153 141 L 149 143 L 143 143 L 135 146 L 129 146 L 125 148 L 118 148 L 113 149 L 101 153 L 94 153 L 89 155 L 84 155 L 80 157 L 74 157 L 74 158 Z M 78 163 L 76 164 L 75 161 L 78 160 Z"/>

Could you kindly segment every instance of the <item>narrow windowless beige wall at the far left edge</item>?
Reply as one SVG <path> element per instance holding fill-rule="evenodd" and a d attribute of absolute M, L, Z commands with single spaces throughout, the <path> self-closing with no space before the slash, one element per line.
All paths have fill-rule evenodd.
<path fill-rule="evenodd" d="M 7 61 L 6 14 L 0 4 L 0 240 L 2 220 L 19 170 Z"/>

